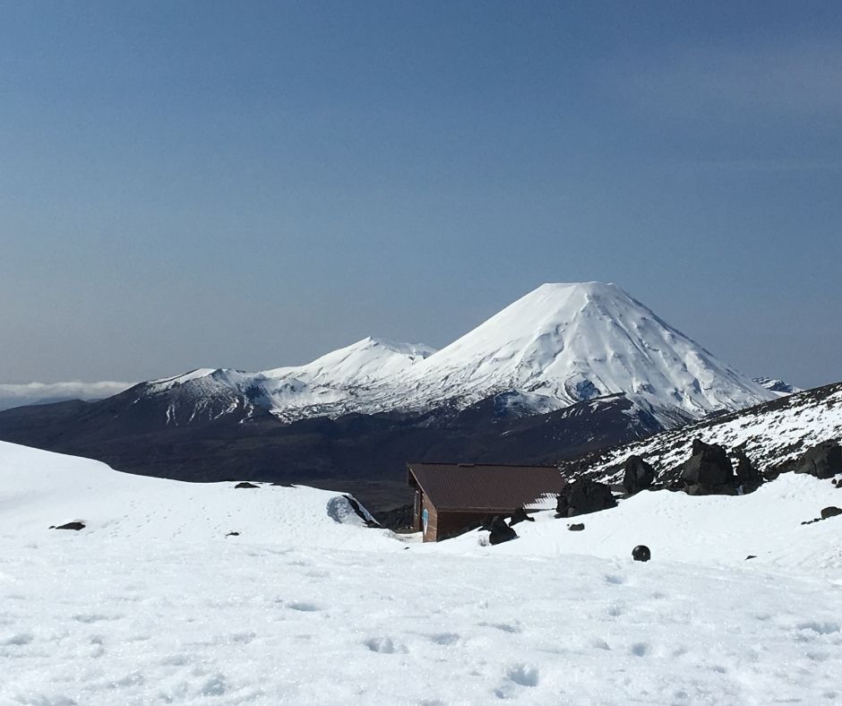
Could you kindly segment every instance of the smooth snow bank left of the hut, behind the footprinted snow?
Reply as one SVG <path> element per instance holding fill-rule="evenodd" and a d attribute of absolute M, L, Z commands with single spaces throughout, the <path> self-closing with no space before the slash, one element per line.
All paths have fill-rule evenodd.
<path fill-rule="evenodd" d="M 228 539 L 297 547 L 396 545 L 390 532 L 366 528 L 341 493 L 235 486 L 134 476 L 99 461 L 0 442 L 0 518 L 3 531 L 16 536 L 49 536 L 59 531 L 47 531 L 51 525 L 82 521 L 86 538 L 200 541 L 238 532 Z"/>

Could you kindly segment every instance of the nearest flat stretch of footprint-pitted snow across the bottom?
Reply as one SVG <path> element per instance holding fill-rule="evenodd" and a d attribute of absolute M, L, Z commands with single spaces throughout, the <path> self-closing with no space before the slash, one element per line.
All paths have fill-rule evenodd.
<path fill-rule="evenodd" d="M 0 702 L 842 700 L 842 586 L 586 556 L 0 540 Z"/>

